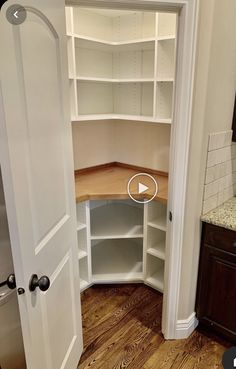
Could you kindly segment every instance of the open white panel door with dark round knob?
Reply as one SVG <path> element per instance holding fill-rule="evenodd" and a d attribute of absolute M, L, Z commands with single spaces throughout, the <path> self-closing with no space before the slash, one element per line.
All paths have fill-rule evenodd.
<path fill-rule="evenodd" d="M 83 344 L 64 2 L 20 1 L 17 26 L 12 4 L 0 13 L 0 160 L 27 367 L 74 369 Z M 31 292 L 33 274 L 50 287 L 44 278 Z"/>

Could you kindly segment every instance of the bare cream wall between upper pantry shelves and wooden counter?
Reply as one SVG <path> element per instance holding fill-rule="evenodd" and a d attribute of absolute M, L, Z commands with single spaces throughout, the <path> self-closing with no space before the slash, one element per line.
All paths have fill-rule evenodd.
<path fill-rule="evenodd" d="M 72 127 L 75 169 L 119 161 L 168 172 L 169 125 L 98 121 Z"/>

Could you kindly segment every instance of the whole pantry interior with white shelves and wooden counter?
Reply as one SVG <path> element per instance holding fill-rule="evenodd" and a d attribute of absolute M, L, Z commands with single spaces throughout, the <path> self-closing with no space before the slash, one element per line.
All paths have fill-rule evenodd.
<path fill-rule="evenodd" d="M 144 282 L 163 293 L 178 16 L 66 7 L 66 25 L 80 290 Z M 159 184 L 144 204 L 127 194 L 139 172 Z"/>

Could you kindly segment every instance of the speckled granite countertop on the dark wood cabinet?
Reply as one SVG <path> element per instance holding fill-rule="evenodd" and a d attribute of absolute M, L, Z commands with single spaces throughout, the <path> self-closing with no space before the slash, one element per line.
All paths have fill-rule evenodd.
<path fill-rule="evenodd" d="M 236 197 L 232 197 L 218 208 L 209 211 L 201 217 L 201 220 L 236 231 Z"/>

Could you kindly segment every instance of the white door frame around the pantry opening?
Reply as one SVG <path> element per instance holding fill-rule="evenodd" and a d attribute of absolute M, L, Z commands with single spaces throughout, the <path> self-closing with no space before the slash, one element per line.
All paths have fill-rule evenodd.
<path fill-rule="evenodd" d="M 174 117 L 171 134 L 170 180 L 168 192 L 168 239 L 165 267 L 162 332 L 166 339 L 185 338 L 195 328 L 191 322 L 178 324 L 182 245 L 185 219 L 189 145 L 192 118 L 195 53 L 197 41 L 198 0 L 66 0 L 67 6 L 178 12 L 177 73 Z M 181 335 L 178 328 L 181 322 Z"/>

